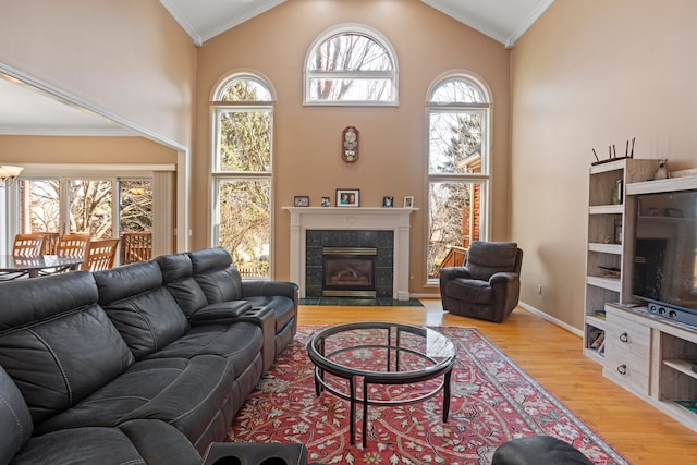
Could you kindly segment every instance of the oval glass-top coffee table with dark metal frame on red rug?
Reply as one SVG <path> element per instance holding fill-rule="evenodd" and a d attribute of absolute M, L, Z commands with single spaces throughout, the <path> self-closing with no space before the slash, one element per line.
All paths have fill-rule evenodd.
<path fill-rule="evenodd" d="M 448 421 L 455 346 L 438 331 L 383 321 L 334 325 L 313 336 L 307 353 L 315 364 L 317 395 L 326 390 L 351 403 L 352 444 L 356 403 L 363 404 L 364 445 L 368 405 L 405 405 L 443 391 L 443 423 Z"/>

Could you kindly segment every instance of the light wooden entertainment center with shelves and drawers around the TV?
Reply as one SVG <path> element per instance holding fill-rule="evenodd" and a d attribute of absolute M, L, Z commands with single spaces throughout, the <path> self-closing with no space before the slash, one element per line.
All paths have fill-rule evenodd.
<path fill-rule="evenodd" d="M 603 376 L 697 431 L 697 328 L 650 313 L 632 290 L 636 195 L 697 189 L 697 176 L 646 181 L 658 162 L 625 158 L 590 168 L 584 354 Z"/>

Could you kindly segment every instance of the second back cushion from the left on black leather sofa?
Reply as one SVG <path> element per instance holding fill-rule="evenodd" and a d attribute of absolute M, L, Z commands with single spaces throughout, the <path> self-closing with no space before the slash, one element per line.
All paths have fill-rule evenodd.
<path fill-rule="evenodd" d="M 155 261 L 94 273 L 99 302 L 136 359 L 151 354 L 188 330 L 186 316 L 162 285 Z"/>

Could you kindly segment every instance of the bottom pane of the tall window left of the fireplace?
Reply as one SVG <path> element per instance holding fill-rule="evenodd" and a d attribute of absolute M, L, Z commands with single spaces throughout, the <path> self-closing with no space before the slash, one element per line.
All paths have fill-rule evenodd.
<path fill-rule="evenodd" d="M 245 277 L 270 277 L 270 180 L 218 183 L 218 244 Z"/>

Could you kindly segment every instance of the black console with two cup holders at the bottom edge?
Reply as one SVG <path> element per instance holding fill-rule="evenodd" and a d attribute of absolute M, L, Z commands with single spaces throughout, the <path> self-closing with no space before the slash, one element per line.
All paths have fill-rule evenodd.
<path fill-rule="evenodd" d="M 271 442 L 213 442 L 201 458 L 201 465 L 306 465 L 307 448 L 303 444 Z"/>

